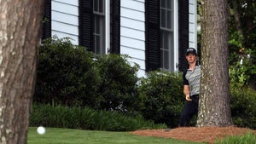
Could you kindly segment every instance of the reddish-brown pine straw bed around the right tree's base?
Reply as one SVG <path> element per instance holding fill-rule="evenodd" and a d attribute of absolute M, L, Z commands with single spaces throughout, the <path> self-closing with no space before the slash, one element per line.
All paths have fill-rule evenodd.
<path fill-rule="evenodd" d="M 248 132 L 253 132 L 256 135 L 256 130 L 249 130 L 238 127 L 181 127 L 172 130 L 137 130 L 131 132 L 133 135 L 145 135 L 173 138 L 184 141 L 199 141 L 213 143 L 217 138 L 222 139 L 229 135 L 245 135 Z"/>

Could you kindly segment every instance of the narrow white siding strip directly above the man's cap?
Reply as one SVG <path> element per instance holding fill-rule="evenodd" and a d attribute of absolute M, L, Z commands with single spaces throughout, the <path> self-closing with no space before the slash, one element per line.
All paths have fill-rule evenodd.
<path fill-rule="evenodd" d="M 196 0 L 189 0 L 189 47 L 197 49 Z"/>

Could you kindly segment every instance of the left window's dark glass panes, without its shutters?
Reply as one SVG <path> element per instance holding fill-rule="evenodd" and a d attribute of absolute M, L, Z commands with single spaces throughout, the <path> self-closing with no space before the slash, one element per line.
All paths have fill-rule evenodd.
<path fill-rule="evenodd" d="M 93 1 L 94 14 L 94 53 L 105 54 L 105 0 Z"/>

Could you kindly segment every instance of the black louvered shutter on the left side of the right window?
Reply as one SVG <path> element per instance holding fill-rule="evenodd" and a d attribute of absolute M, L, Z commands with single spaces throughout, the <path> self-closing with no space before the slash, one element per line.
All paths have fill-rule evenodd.
<path fill-rule="evenodd" d="M 160 68 L 160 1 L 147 0 L 146 5 L 146 71 Z"/>

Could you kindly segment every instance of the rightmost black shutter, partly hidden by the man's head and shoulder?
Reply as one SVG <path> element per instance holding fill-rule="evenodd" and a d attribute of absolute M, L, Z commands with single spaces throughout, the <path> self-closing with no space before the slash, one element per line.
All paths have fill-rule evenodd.
<path fill-rule="evenodd" d="M 180 0 L 178 3 L 178 51 L 179 51 L 179 71 L 188 68 L 185 58 L 186 50 L 189 48 L 189 1 Z"/>

